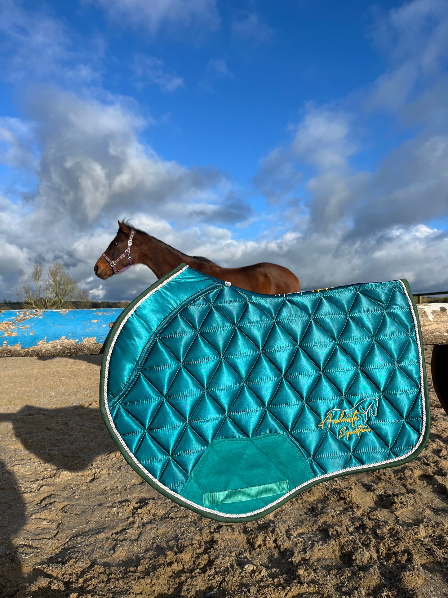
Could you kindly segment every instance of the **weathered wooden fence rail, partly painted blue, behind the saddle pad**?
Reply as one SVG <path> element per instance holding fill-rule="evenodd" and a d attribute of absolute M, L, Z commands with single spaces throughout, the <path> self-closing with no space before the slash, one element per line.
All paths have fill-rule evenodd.
<path fill-rule="evenodd" d="M 448 303 L 418 304 L 424 344 L 448 344 Z M 121 309 L 4 310 L 0 357 L 97 355 Z"/>

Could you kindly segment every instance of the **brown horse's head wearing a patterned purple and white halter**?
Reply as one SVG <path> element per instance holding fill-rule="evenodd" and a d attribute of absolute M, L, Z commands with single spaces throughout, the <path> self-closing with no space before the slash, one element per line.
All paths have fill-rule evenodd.
<path fill-rule="evenodd" d="M 96 276 L 106 280 L 136 263 L 135 248 L 131 248 L 135 231 L 118 221 L 118 233 L 94 266 Z"/>

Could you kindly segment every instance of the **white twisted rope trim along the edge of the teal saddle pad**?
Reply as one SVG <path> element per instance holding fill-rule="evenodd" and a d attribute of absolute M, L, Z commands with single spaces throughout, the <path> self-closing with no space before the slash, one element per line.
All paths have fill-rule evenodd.
<path fill-rule="evenodd" d="M 277 499 L 277 501 L 271 502 L 271 503 L 269 503 L 269 505 L 266 505 L 265 507 L 263 507 L 261 509 L 257 509 L 256 511 L 250 511 L 248 513 L 239 513 L 237 515 L 235 515 L 234 513 L 223 513 L 221 511 L 214 511 L 213 509 L 208 509 L 207 507 L 202 507 L 202 505 L 198 505 L 195 502 L 189 501 L 188 499 L 184 498 L 180 494 L 177 494 L 177 492 L 173 492 L 173 490 L 170 490 L 167 486 L 164 486 L 164 484 L 161 484 L 159 482 L 159 480 L 157 480 L 157 478 L 154 477 L 154 475 L 152 475 L 147 469 L 145 469 L 143 467 L 143 465 L 139 461 L 137 461 L 136 457 L 128 449 L 128 447 L 126 446 L 126 444 L 125 444 L 124 440 L 122 439 L 121 435 L 119 435 L 118 430 L 115 428 L 115 423 L 113 423 L 111 412 L 109 411 L 109 405 L 108 405 L 109 361 L 111 359 L 112 349 L 113 349 L 113 346 L 115 345 L 115 341 L 116 341 L 116 338 L 118 337 L 118 334 L 121 332 L 121 329 L 124 327 L 125 323 L 128 321 L 128 319 L 130 318 L 130 316 L 135 312 L 135 310 L 137 309 L 137 307 L 139 307 L 143 303 L 143 301 L 146 301 L 146 299 L 148 299 L 148 297 L 150 297 L 155 291 L 158 291 L 159 289 L 162 288 L 162 286 L 164 286 L 168 282 L 170 282 L 170 280 L 173 280 L 174 278 L 176 278 L 176 276 L 179 276 L 179 274 L 182 274 L 182 272 L 184 272 L 187 268 L 188 268 L 188 266 L 185 266 L 185 268 L 183 268 L 182 270 L 179 270 L 178 272 L 176 272 L 176 274 L 173 274 L 173 276 L 170 276 L 170 278 L 167 278 L 166 280 L 164 280 L 164 282 L 162 282 L 161 285 L 157 286 L 155 289 L 152 289 L 152 291 L 150 291 L 148 293 L 148 295 L 145 295 L 145 297 L 143 297 L 142 299 L 140 299 L 139 303 L 137 303 L 133 307 L 133 309 L 131 309 L 131 311 L 125 316 L 124 320 L 119 325 L 118 330 L 115 332 L 115 335 L 114 335 L 114 337 L 112 339 L 112 343 L 111 343 L 111 346 L 109 347 L 109 352 L 108 352 L 108 355 L 106 357 L 105 384 L 104 384 L 104 404 L 105 404 L 106 412 L 108 414 L 108 419 L 109 419 L 109 423 L 111 425 L 111 428 L 113 429 L 114 434 L 118 438 L 118 440 L 119 440 L 122 448 L 126 451 L 126 453 L 131 458 L 131 460 L 133 460 L 133 462 L 136 464 L 137 469 L 139 469 L 140 471 L 142 471 L 143 474 L 145 474 L 152 481 L 154 481 L 154 483 L 157 486 L 159 486 L 162 490 L 164 490 L 164 492 L 168 493 L 168 495 L 173 496 L 177 500 L 182 501 L 184 504 L 191 505 L 191 507 L 194 507 L 195 509 L 199 509 L 202 512 L 207 512 L 207 513 L 210 513 L 212 515 L 219 515 L 220 517 L 227 517 L 229 519 L 240 519 L 241 517 L 251 517 L 252 515 L 257 515 L 259 513 L 265 512 L 269 508 L 275 507 L 275 505 L 277 505 L 279 502 L 284 501 L 284 499 L 287 498 L 288 496 L 291 496 L 294 493 L 296 493 L 297 490 L 300 490 L 301 488 L 303 488 L 305 486 L 308 486 L 309 484 L 314 483 L 314 482 L 316 482 L 318 480 L 325 480 L 326 478 L 332 478 L 332 477 L 335 477 L 336 475 L 339 475 L 339 474 L 348 473 L 348 472 L 355 472 L 355 471 L 361 471 L 363 469 L 380 467 L 381 465 L 386 465 L 386 463 L 394 463 L 395 461 L 401 461 L 403 459 L 406 459 L 406 457 L 409 457 L 412 453 L 414 453 L 418 449 L 418 447 L 422 443 L 422 440 L 423 440 L 424 435 L 425 435 L 425 429 L 426 429 L 425 380 L 424 380 L 424 376 L 423 376 L 422 350 L 421 350 L 421 346 L 420 346 L 420 337 L 419 337 L 418 322 L 417 322 L 416 315 L 415 315 L 415 312 L 414 312 L 414 309 L 413 309 L 412 301 L 409 298 L 409 294 L 407 293 L 406 286 L 404 286 L 403 282 L 401 282 L 401 280 L 400 280 L 398 282 L 400 282 L 401 286 L 403 287 L 403 291 L 404 291 L 404 294 L 406 295 L 407 301 L 409 303 L 409 309 L 410 309 L 410 312 L 412 314 L 412 319 L 413 319 L 413 322 L 414 322 L 414 330 L 415 330 L 415 335 L 416 335 L 416 341 L 417 341 L 417 347 L 418 347 L 418 353 L 419 353 L 420 391 L 421 391 L 421 400 L 422 400 L 422 418 L 423 418 L 423 422 L 422 422 L 422 431 L 421 431 L 421 434 L 420 434 L 420 436 L 418 438 L 418 441 L 417 441 L 415 447 L 413 447 L 410 451 L 408 451 L 406 454 L 401 455 L 400 457 L 394 457 L 394 459 L 386 459 L 384 461 L 379 461 L 377 463 L 367 463 L 366 465 L 358 465 L 358 466 L 355 466 L 355 467 L 348 467 L 346 469 L 339 469 L 338 471 L 332 471 L 329 474 L 318 475 L 317 477 L 311 478 L 311 480 L 308 480 L 306 482 L 303 482 L 303 484 L 300 484 L 299 486 L 296 486 L 295 488 L 293 488 L 292 490 L 290 490 L 290 492 L 287 492 L 286 494 L 282 495 L 279 499 Z"/>

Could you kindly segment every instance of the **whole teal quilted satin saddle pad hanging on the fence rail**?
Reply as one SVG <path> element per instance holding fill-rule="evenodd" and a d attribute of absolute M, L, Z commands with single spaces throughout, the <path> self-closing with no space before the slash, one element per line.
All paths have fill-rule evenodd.
<path fill-rule="evenodd" d="M 174 502 L 249 521 L 425 446 L 406 280 L 259 295 L 181 264 L 105 343 L 100 404 L 127 462 Z"/>

